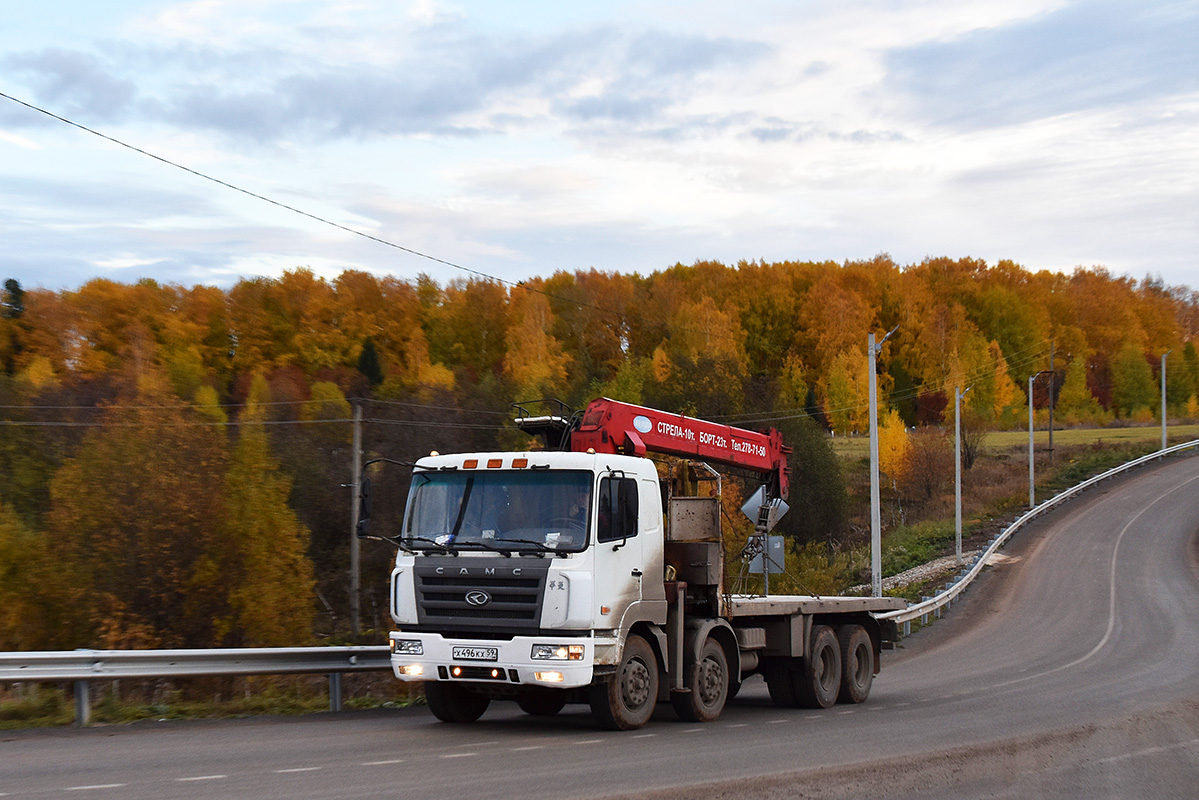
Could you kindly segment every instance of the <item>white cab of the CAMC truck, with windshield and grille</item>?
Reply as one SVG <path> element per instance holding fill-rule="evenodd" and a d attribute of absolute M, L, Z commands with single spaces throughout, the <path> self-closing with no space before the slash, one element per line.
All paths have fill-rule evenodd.
<path fill-rule="evenodd" d="M 620 631 L 662 625 L 653 462 L 495 452 L 417 462 L 392 571 L 402 680 L 588 686 Z"/>

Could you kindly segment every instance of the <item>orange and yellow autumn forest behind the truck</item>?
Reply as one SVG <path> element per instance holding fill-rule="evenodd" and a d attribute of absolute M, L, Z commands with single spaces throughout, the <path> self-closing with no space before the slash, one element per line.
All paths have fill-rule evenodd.
<path fill-rule="evenodd" d="M 796 446 L 788 533 L 845 515 L 830 437 L 1199 420 L 1199 291 L 1103 269 L 697 263 L 507 284 L 297 269 L 0 293 L 0 650 L 272 646 L 349 631 L 351 433 L 366 458 L 523 446 L 512 404 L 608 396 Z M 1032 397 L 1028 397 L 1032 378 Z M 543 407 L 538 407 L 543 408 Z M 380 464 L 376 516 L 406 474 Z M 884 465 L 892 485 L 910 465 Z M 899 491 L 897 488 L 897 491 Z M 364 627 L 392 551 L 363 548 Z"/>

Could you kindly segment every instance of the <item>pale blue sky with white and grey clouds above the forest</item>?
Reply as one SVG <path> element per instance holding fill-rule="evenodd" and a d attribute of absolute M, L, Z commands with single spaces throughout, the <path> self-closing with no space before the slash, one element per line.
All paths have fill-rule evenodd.
<path fill-rule="evenodd" d="M 0 92 L 399 248 L 0 97 L 0 279 L 890 253 L 1199 287 L 1197 54 L 1197 0 L 12 2 Z"/>

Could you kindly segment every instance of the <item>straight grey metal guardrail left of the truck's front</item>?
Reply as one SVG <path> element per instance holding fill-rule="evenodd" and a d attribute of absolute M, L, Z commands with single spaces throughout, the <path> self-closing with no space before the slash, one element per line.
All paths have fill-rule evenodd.
<path fill-rule="evenodd" d="M 0 652 L 0 682 L 74 681 L 76 724 L 80 726 L 91 720 L 92 680 L 324 673 L 330 709 L 341 711 L 342 674 L 381 670 L 391 670 L 386 645 Z"/>

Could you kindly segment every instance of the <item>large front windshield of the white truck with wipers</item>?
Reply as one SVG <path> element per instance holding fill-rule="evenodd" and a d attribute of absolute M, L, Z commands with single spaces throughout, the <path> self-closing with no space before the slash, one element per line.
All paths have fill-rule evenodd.
<path fill-rule="evenodd" d="M 585 471 L 417 473 L 403 537 L 411 549 L 578 552 L 590 510 Z"/>

